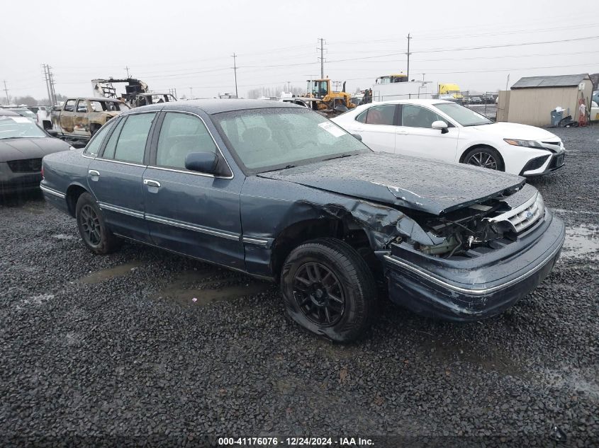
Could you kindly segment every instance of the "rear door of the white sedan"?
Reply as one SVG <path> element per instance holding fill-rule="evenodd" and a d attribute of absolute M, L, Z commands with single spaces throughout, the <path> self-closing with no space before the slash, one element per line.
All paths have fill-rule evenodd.
<path fill-rule="evenodd" d="M 395 152 L 397 105 L 374 105 L 356 117 L 355 129 L 370 149 Z"/>

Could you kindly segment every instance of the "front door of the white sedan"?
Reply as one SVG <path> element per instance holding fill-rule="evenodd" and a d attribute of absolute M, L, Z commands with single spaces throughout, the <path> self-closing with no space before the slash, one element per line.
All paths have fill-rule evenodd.
<path fill-rule="evenodd" d="M 400 126 L 396 130 L 397 154 L 455 161 L 459 128 L 449 125 L 446 133 L 432 129 L 432 122 L 447 120 L 420 105 L 403 104 L 400 115 Z"/>

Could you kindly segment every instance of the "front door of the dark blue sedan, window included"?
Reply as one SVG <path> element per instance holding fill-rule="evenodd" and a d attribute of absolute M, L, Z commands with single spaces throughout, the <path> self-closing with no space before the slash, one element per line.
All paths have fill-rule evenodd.
<path fill-rule="evenodd" d="M 198 115 L 167 112 L 163 117 L 143 176 L 152 241 L 171 251 L 243 269 L 239 208 L 243 179 L 233 178 L 233 173 L 213 176 L 187 170 L 190 152 L 223 155 Z"/>

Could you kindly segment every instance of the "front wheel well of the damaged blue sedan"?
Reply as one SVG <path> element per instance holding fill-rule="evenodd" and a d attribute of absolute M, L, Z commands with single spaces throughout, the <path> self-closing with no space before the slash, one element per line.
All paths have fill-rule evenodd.
<path fill-rule="evenodd" d="M 317 238 L 336 238 L 345 241 L 358 251 L 368 262 L 370 255 L 374 257 L 368 236 L 364 229 L 354 229 L 341 219 L 307 219 L 286 227 L 274 240 L 271 255 L 272 272 L 276 279 L 287 256 L 294 248 L 306 241 Z"/>

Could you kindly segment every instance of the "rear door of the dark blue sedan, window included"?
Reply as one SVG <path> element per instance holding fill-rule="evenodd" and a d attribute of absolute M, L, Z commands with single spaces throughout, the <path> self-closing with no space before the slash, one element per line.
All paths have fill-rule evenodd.
<path fill-rule="evenodd" d="M 101 156 L 88 167 L 88 185 L 114 233 L 150 242 L 144 220 L 142 177 L 155 112 L 121 117 Z"/>

